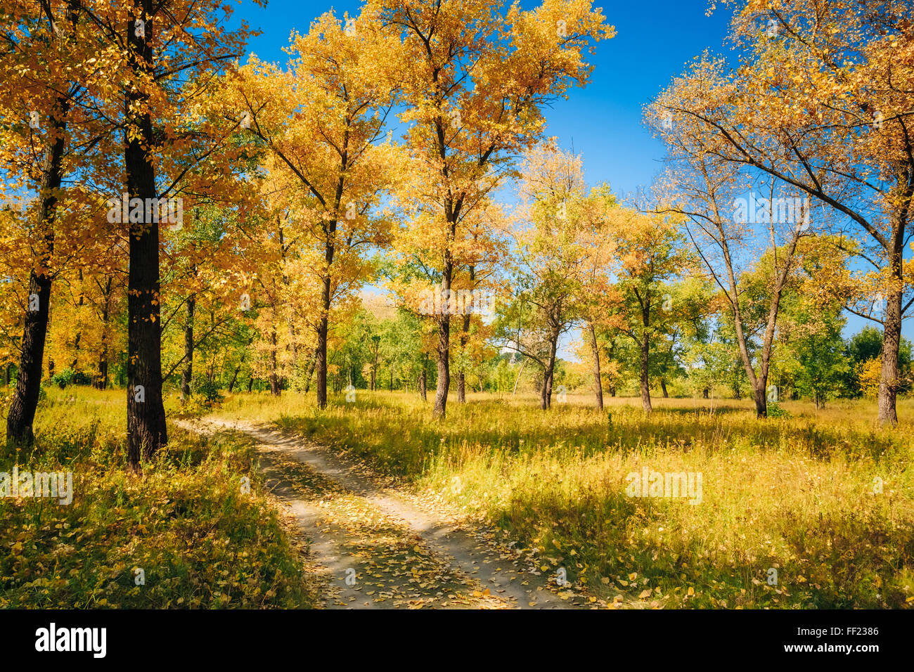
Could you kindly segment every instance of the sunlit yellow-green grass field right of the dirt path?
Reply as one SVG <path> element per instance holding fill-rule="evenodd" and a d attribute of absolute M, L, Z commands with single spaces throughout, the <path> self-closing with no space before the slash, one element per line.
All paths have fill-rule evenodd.
<path fill-rule="evenodd" d="M 665 607 L 914 604 L 912 400 L 880 430 L 867 400 L 787 401 L 790 417 L 758 421 L 748 400 L 660 399 L 645 416 L 636 399 L 600 412 L 569 394 L 544 412 L 532 395 L 476 394 L 452 398 L 438 422 L 431 398 L 359 390 L 318 411 L 314 395 L 239 394 L 215 415 L 365 460 L 601 594 Z M 700 504 L 626 494 L 645 466 L 700 473 Z"/>

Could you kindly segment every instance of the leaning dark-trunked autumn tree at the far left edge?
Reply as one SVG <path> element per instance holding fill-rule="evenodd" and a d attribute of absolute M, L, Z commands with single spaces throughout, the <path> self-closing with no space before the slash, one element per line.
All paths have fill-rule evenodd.
<path fill-rule="evenodd" d="M 54 260 L 55 239 L 61 211 L 67 208 L 63 180 L 74 163 L 67 156 L 73 154 L 75 134 L 71 108 L 85 87 L 96 81 L 97 69 L 85 62 L 83 50 L 91 40 L 86 38 L 87 17 L 80 2 L 10 2 L 4 5 L 4 15 L 0 159 L 9 184 L 0 185 L 0 192 L 24 187 L 36 195 L 35 207 L 27 210 L 34 221 L 27 233 L 31 249 L 28 292 L 6 439 L 30 444 L 48 336 L 53 269 L 59 267 Z M 83 122 L 84 115 L 79 116 Z"/>

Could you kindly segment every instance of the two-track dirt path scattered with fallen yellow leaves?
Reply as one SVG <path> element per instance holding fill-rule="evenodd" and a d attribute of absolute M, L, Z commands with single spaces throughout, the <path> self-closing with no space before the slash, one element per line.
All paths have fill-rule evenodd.
<path fill-rule="evenodd" d="M 322 446 L 245 422 L 182 422 L 243 432 L 271 493 L 289 507 L 322 568 L 327 608 L 562 609 L 605 606 L 531 560 L 453 525 Z"/>

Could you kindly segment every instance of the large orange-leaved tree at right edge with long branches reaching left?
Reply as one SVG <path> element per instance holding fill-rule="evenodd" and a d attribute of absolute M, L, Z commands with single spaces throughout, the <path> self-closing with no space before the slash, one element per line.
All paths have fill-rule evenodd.
<path fill-rule="evenodd" d="M 775 177 L 834 211 L 886 298 L 879 421 L 898 421 L 909 298 L 914 33 L 905 3 L 735 0 L 737 68 L 705 56 L 657 101 L 701 152 Z M 853 306 L 850 306 L 853 310 Z"/>

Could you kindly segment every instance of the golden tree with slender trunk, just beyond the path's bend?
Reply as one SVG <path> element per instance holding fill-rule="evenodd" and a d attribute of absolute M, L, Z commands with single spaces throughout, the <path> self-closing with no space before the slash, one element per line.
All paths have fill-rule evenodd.
<path fill-rule="evenodd" d="M 372 213 L 387 179 L 389 145 L 381 144 L 392 104 L 389 59 L 398 45 L 364 17 L 320 16 L 307 35 L 292 37 L 288 70 L 252 59 L 230 83 L 226 104 L 274 156 L 276 179 L 294 188 L 293 226 L 300 259 L 319 289 L 317 402 L 327 401 L 327 337 L 335 301 L 370 274 L 363 255 L 383 245 L 386 225 Z"/>

